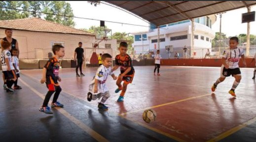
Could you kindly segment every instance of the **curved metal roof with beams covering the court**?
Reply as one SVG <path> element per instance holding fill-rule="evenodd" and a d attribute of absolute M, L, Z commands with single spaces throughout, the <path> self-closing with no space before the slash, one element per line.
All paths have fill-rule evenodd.
<path fill-rule="evenodd" d="M 256 1 L 106 1 L 160 26 L 256 4 Z"/>

